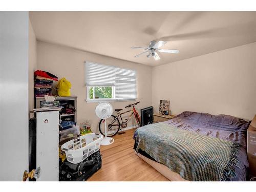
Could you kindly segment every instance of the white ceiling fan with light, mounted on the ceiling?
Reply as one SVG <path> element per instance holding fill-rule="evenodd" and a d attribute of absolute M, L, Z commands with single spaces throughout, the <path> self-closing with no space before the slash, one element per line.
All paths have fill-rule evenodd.
<path fill-rule="evenodd" d="M 145 54 L 147 53 L 147 58 L 150 58 L 150 57 L 154 57 L 155 60 L 159 60 L 160 57 L 159 55 L 157 54 L 157 52 L 162 52 L 162 53 L 179 53 L 179 50 L 176 50 L 176 49 L 159 49 L 160 47 L 162 47 L 163 45 L 166 44 L 166 41 L 158 41 L 156 42 L 155 40 L 152 40 L 150 41 L 150 45 L 145 48 L 145 47 L 131 47 L 132 49 L 144 49 L 146 51 L 134 56 L 134 57 L 138 57 L 142 54 Z"/>

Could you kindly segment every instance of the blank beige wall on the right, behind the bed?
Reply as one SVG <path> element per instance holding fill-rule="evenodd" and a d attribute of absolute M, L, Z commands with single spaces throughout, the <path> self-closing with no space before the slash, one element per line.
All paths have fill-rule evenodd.
<path fill-rule="evenodd" d="M 255 52 L 256 42 L 154 67 L 154 110 L 166 99 L 174 114 L 195 111 L 251 120 L 256 114 Z"/>

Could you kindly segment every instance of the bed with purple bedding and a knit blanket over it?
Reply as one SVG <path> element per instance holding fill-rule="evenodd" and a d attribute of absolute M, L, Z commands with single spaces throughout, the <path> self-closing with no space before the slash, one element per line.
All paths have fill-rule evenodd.
<path fill-rule="evenodd" d="M 183 112 L 139 127 L 134 149 L 171 181 L 245 181 L 248 126 L 229 115 Z"/>

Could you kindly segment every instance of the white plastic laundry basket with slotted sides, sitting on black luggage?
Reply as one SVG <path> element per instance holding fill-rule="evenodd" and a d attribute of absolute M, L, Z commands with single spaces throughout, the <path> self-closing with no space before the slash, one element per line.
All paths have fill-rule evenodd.
<path fill-rule="evenodd" d="M 66 153 L 67 160 L 76 164 L 99 151 L 102 138 L 100 134 L 89 133 L 64 143 L 60 148 Z"/>

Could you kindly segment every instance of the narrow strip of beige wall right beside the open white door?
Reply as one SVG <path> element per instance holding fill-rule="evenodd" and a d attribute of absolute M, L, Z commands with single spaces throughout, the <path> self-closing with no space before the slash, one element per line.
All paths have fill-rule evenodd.
<path fill-rule="evenodd" d="M 29 111 L 34 109 L 34 71 L 36 68 L 36 37 L 29 20 Z M 34 117 L 34 114 L 30 113 L 29 117 Z"/>

